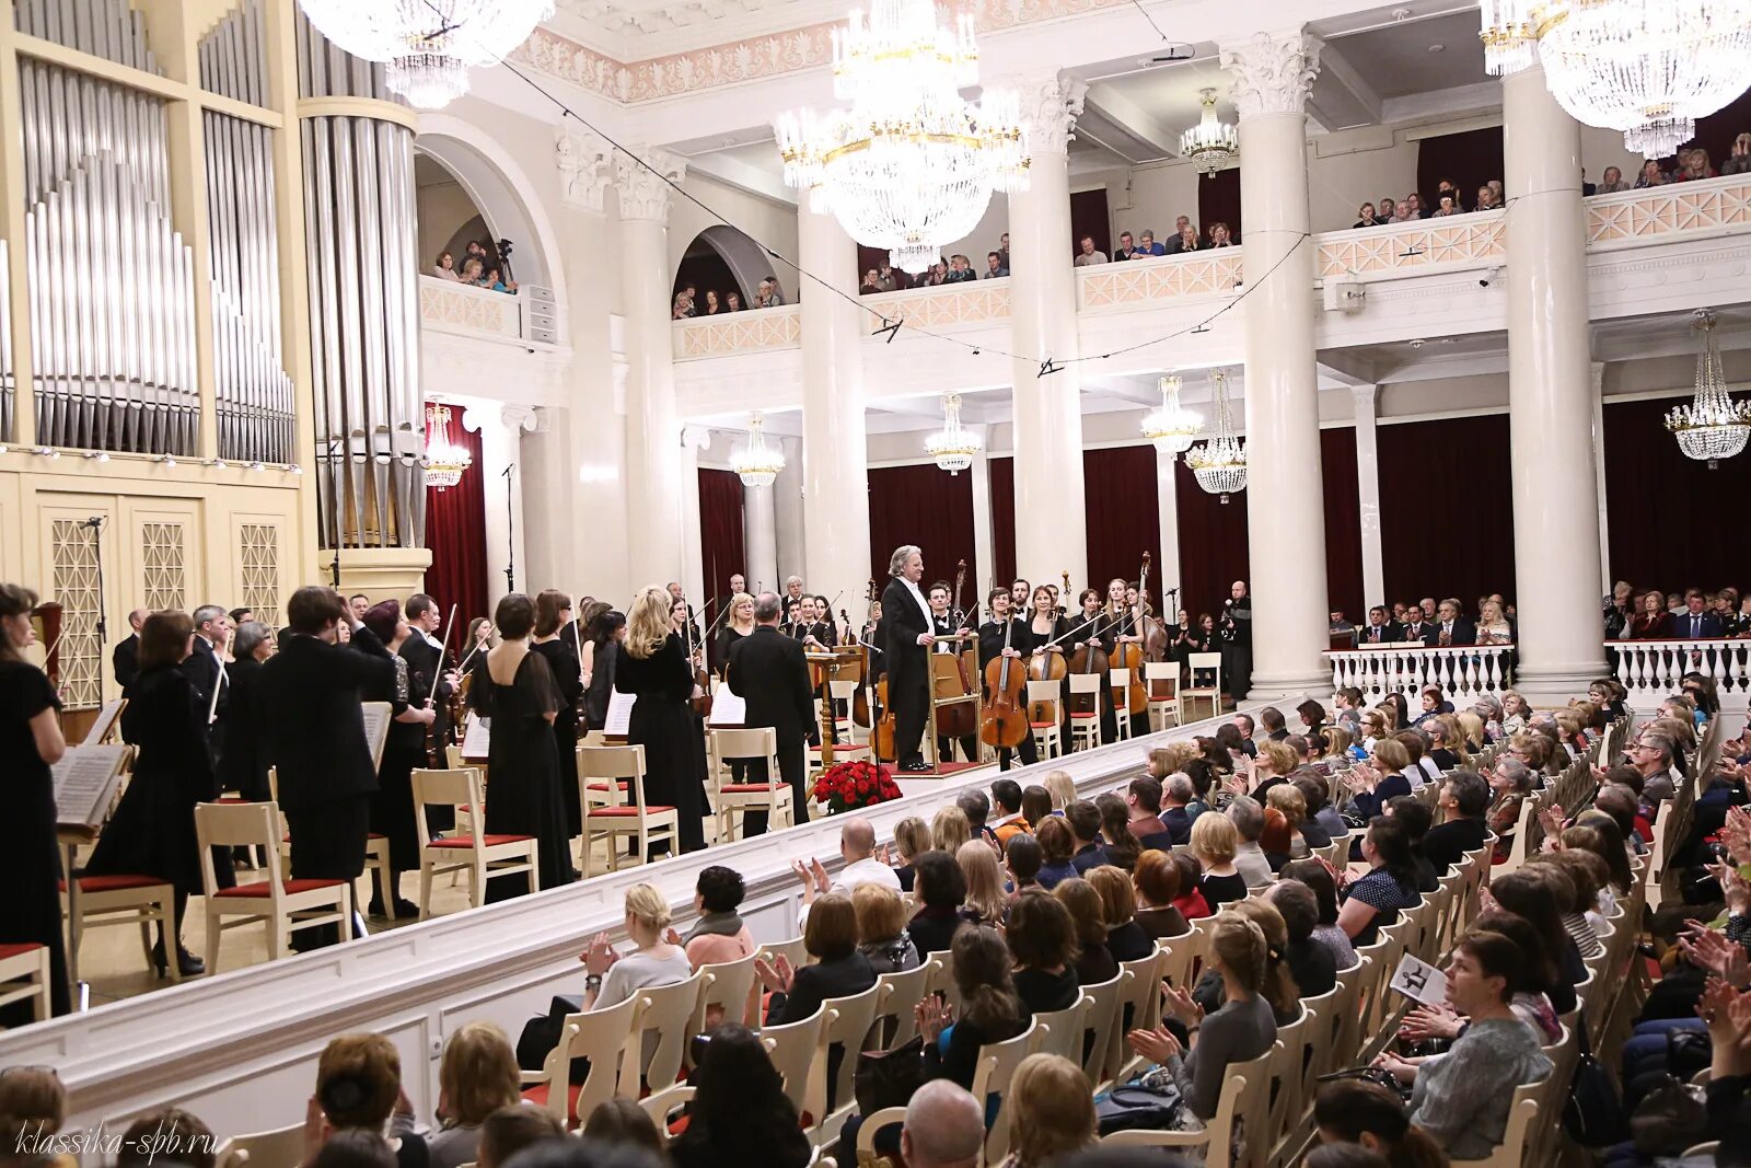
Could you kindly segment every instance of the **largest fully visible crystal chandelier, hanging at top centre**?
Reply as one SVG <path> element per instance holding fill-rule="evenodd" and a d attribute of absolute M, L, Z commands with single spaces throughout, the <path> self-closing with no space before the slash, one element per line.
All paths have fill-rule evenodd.
<path fill-rule="evenodd" d="M 991 191 L 1028 186 L 1021 107 L 991 89 L 963 100 L 977 81 L 970 16 L 946 25 L 932 0 L 874 0 L 867 25 L 853 12 L 833 30 L 833 96 L 851 109 L 774 123 L 784 182 L 893 266 L 926 271 L 974 233 Z"/>

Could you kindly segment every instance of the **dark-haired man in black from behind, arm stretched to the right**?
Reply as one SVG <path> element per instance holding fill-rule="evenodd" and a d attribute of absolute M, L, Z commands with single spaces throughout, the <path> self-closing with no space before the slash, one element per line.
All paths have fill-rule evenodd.
<path fill-rule="evenodd" d="M 292 879 L 355 881 L 364 872 L 376 763 L 359 693 L 394 688 L 394 662 L 336 643 L 350 615 L 333 588 L 294 592 L 285 604 L 291 636 L 263 664 L 257 683 L 259 707 L 268 711 L 261 746 L 280 776 Z M 333 942 L 333 928 L 292 935 L 294 947 Z"/>

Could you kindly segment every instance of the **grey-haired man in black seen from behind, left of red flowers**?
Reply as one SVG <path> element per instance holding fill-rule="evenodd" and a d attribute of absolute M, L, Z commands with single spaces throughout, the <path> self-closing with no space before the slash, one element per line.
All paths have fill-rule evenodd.
<path fill-rule="evenodd" d="M 790 783 L 797 823 L 809 821 L 807 753 L 809 725 L 814 721 L 814 695 L 809 692 L 809 662 L 802 641 L 777 630 L 784 611 L 776 592 L 755 597 L 755 630 L 730 646 L 725 665 L 725 685 L 730 693 L 748 702 L 742 725 L 748 728 L 772 727 L 777 732 L 777 769 Z M 749 763 L 749 783 L 772 783 L 765 760 Z M 749 811 L 742 821 L 742 835 L 762 835 L 767 814 Z"/>

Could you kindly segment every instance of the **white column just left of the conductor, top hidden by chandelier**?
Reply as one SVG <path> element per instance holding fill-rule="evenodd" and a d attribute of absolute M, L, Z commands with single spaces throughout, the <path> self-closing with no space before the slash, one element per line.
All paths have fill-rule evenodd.
<path fill-rule="evenodd" d="M 870 569 L 858 249 L 837 219 L 798 200 L 797 252 L 802 268 L 830 285 L 802 287 L 802 525 L 809 532 L 802 578 L 809 592 L 844 601 L 868 590 Z"/>

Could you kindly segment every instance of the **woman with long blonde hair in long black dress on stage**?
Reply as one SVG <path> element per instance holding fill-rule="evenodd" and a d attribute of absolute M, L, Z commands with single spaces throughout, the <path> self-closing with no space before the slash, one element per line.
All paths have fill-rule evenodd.
<path fill-rule="evenodd" d="M 627 641 L 615 669 L 615 690 L 637 702 L 627 742 L 644 748 L 644 802 L 674 807 L 679 851 L 706 846 L 706 735 L 688 702 L 699 686 L 681 634 L 674 630 L 667 588 L 646 587 L 627 613 Z M 800 814 L 800 809 L 798 809 Z M 669 849 L 669 844 L 658 844 Z M 655 849 L 653 849 L 655 851 Z"/>

